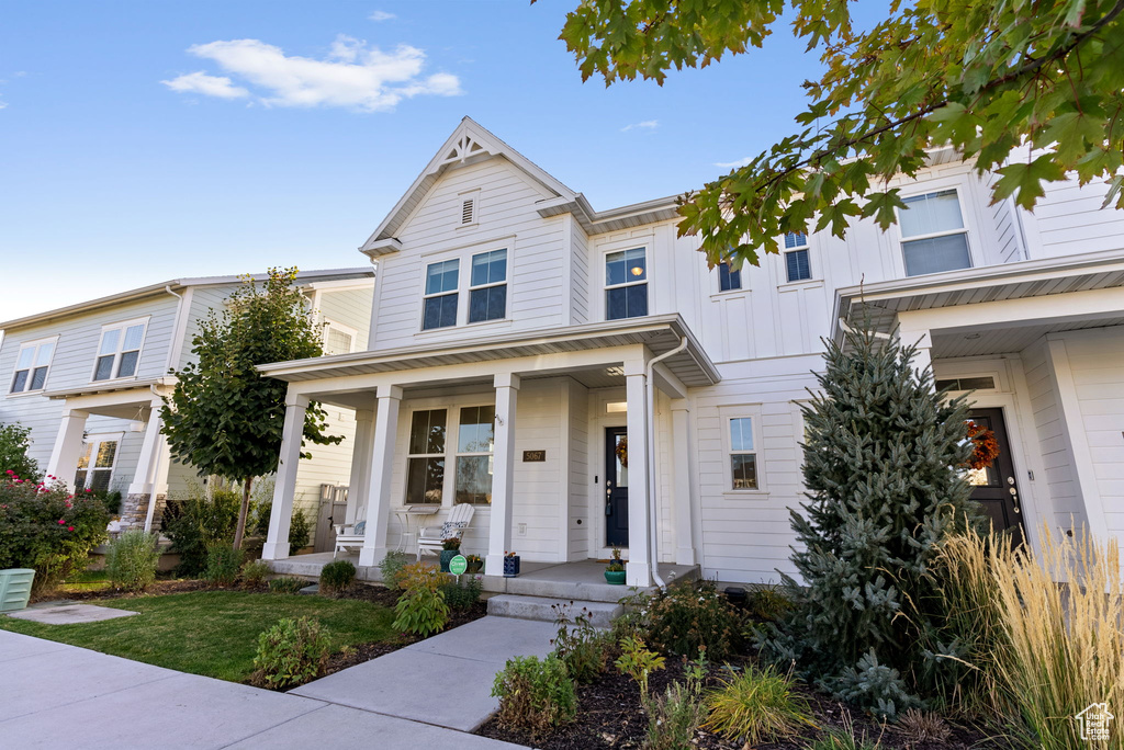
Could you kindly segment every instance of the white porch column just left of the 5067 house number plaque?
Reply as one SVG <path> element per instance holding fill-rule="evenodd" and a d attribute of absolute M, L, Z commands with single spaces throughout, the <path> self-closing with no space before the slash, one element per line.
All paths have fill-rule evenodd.
<path fill-rule="evenodd" d="M 484 573 L 504 575 L 504 552 L 511 549 L 511 486 L 515 481 L 515 420 L 519 376 L 496 376 L 496 440 L 492 450 L 492 504 Z"/>

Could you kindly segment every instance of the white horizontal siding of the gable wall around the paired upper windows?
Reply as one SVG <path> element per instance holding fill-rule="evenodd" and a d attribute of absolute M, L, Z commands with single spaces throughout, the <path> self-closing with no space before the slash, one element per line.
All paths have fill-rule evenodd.
<path fill-rule="evenodd" d="M 465 191 L 475 191 L 478 223 L 461 227 Z M 483 336 L 565 324 L 571 304 L 563 299 L 563 272 L 569 265 L 563 254 L 569 241 L 566 220 L 540 217 L 535 204 L 544 198 L 549 198 L 545 191 L 501 158 L 442 176 L 399 232 L 404 249 L 379 262 L 371 349 L 463 341 L 470 330 Z M 426 265 L 461 257 L 460 293 L 464 295 L 472 253 L 502 247 L 508 250 L 507 319 L 423 332 Z"/>

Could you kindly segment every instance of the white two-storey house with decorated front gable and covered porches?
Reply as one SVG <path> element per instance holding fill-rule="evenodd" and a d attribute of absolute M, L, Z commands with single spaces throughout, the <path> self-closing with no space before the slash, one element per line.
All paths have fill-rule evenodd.
<path fill-rule="evenodd" d="M 990 205 L 991 180 L 935 150 L 889 231 L 789 235 L 760 268 L 708 269 L 672 198 L 595 211 L 465 118 L 361 248 L 368 349 L 262 367 L 290 383 L 265 557 L 289 555 L 312 399 L 356 413 L 361 565 L 409 547 L 405 506 L 468 502 L 490 575 L 507 550 L 618 545 L 632 585 L 661 562 L 777 580 L 821 339 L 867 315 L 976 392 L 1003 450 L 976 496 L 1000 528 L 1124 537 L 1124 213 L 1076 181 L 1033 214 Z"/>

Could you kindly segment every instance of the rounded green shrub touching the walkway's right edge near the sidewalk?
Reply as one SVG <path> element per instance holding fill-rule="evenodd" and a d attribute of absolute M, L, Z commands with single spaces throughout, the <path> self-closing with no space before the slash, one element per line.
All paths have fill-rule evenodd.
<path fill-rule="evenodd" d="M 572 721 L 578 712 L 573 680 L 554 656 L 508 659 L 491 694 L 499 698 L 500 723 L 532 732 Z"/>

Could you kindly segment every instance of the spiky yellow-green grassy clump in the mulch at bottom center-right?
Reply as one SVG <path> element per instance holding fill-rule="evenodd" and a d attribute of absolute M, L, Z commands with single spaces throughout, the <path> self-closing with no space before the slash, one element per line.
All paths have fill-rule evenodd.
<path fill-rule="evenodd" d="M 706 697 L 710 717 L 705 729 L 752 747 L 815 725 L 808 703 L 792 689 L 792 677 L 772 666 L 764 670 L 750 666 L 722 682 L 723 687 Z"/>

